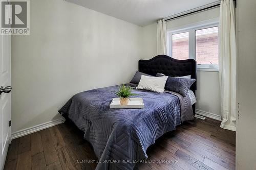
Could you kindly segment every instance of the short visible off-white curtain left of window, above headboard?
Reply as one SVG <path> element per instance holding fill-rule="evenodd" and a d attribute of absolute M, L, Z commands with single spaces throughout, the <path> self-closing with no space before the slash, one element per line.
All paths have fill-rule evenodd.
<path fill-rule="evenodd" d="M 167 55 L 166 22 L 164 19 L 157 21 L 157 55 Z"/>

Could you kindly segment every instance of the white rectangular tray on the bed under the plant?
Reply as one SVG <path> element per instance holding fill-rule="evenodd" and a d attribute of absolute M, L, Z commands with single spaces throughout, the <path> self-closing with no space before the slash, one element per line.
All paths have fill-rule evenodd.
<path fill-rule="evenodd" d="M 119 98 L 114 98 L 110 104 L 111 109 L 139 109 L 144 108 L 142 98 L 130 98 L 127 105 L 121 105 Z"/>

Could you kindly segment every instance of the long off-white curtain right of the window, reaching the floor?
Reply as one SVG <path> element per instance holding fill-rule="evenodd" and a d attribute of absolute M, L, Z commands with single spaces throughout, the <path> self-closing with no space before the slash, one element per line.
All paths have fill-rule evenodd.
<path fill-rule="evenodd" d="M 237 50 L 233 0 L 221 0 L 219 45 L 221 127 L 236 131 Z"/>

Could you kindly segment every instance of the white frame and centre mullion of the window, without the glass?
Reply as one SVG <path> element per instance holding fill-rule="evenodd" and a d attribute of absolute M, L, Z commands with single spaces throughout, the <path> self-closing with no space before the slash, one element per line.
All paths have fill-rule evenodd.
<path fill-rule="evenodd" d="M 188 32 L 188 57 L 196 60 L 196 31 L 211 27 L 219 27 L 219 18 L 196 22 L 182 27 L 167 29 L 167 54 L 172 57 L 173 35 Z M 219 71 L 219 65 L 197 64 L 199 71 Z"/>

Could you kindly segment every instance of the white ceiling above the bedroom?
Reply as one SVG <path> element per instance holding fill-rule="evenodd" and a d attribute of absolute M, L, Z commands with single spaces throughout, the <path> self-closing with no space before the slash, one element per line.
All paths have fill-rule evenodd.
<path fill-rule="evenodd" d="M 217 0 L 66 0 L 138 26 L 175 15 Z"/>

